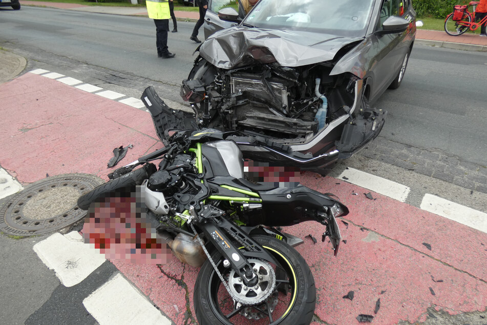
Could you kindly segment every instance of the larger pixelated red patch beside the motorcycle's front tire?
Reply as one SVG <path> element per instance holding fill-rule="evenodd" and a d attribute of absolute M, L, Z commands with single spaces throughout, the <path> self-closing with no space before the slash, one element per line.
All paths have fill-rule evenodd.
<path fill-rule="evenodd" d="M 84 242 L 107 259 L 151 265 L 170 262 L 172 251 L 157 238 L 139 198 L 140 193 L 122 191 L 94 202 L 84 220 Z"/>

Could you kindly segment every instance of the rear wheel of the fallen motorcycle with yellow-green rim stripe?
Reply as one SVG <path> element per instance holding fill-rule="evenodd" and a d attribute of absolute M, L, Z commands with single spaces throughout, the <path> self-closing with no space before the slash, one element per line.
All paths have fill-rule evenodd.
<path fill-rule="evenodd" d="M 273 293 L 264 302 L 255 306 L 239 306 L 234 303 L 227 289 L 222 285 L 210 261 L 206 260 L 198 273 L 194 293 L 195 312 L 199 324 L 251 323 L 250 319 L 256 319 L 256 317 L 260 317 L 259 323 L 265 320 L 266 323 L 272 325 L 309 324 L 314 314 L 316 288 L 313 275 L 306 261 L 294 248 L 279 239 L 263 235 L 253 236 L 252 238 L 284 267 L 288 284 L 282 281 L 283 272 L 280 268 L 277 270 L 279 272 L 276 272 L 276 278 L 278 278 L 276 282 L 279 282 L 279 285 L 286 286 L 288 290 L 282 290 L 283 288 L 276 286 Z M 215 251 L 211 255 L 211 259 L 216 263 L 223 277 L 228 277 L 229 286 L 231 286 L 232 280 L 228 271 L 230 269 L 223 267 L 221 253 Z M 273 266 L 274 272 L 276 271 L 275 268 L 276 266 Z M 238 283 L 235 286 L 238 286 Z M 243 290 L 247 290 L 247 288 L 245 287 Z M 283 306 L 280 305 L 281 303 Z M 271 311 L 270 316 L 268 310 Z M 227 318 L 227 316 L 229 317 Z"/>

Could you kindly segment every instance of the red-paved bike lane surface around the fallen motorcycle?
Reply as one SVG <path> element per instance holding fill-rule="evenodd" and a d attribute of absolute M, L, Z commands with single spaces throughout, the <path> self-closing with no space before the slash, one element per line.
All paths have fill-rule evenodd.
<path fill-rule="evenodd" d="M 134 145 L 119 167 L 161 147 L 149 113 L 44 76 L 27 73 L 0 85 L 0 103 L 0 165 L 23 184 L 47 173 L 107 179 L 113 148 Z M 377 193 L 371 200 L 369 190 L 342 179 L 305 172 L 301 183 L 334 193 L 350 209 L 338 221 L 344 242 L 337 257 L 316 222 L 284 229 L 304 239 L 297 250 L 314 275 L 317 318 L 352 324 L 366 314 L 389 324 L 424 321 L 429 307 L 485 310 L 487 234 Z M 177 259 L 160 267 L 112 262 L 175 323 L 188 311 L 195 315 L 198 269 Z M 349 291 L 353 300 L 343 298 Z"/>

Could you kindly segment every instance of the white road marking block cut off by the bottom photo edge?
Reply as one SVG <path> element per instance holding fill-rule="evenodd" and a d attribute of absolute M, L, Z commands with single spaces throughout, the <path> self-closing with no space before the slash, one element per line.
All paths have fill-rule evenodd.
<path fill-rule="evenodd" d="M 120 274 L 85 298 L 83 305 L 101 325 L 171 324 Z"/>

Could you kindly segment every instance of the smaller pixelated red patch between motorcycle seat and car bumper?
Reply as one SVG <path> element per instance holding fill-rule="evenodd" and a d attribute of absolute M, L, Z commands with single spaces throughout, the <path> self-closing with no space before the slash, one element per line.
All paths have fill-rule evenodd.
<path fill-rule="evenodd" d="M 269 162 L 245 160 L 245 175 L 251 181 L 272 184 L 277 187 L 297 187 L 301 181 L 301 170 L 297 167 L 273 166 Z"/>

